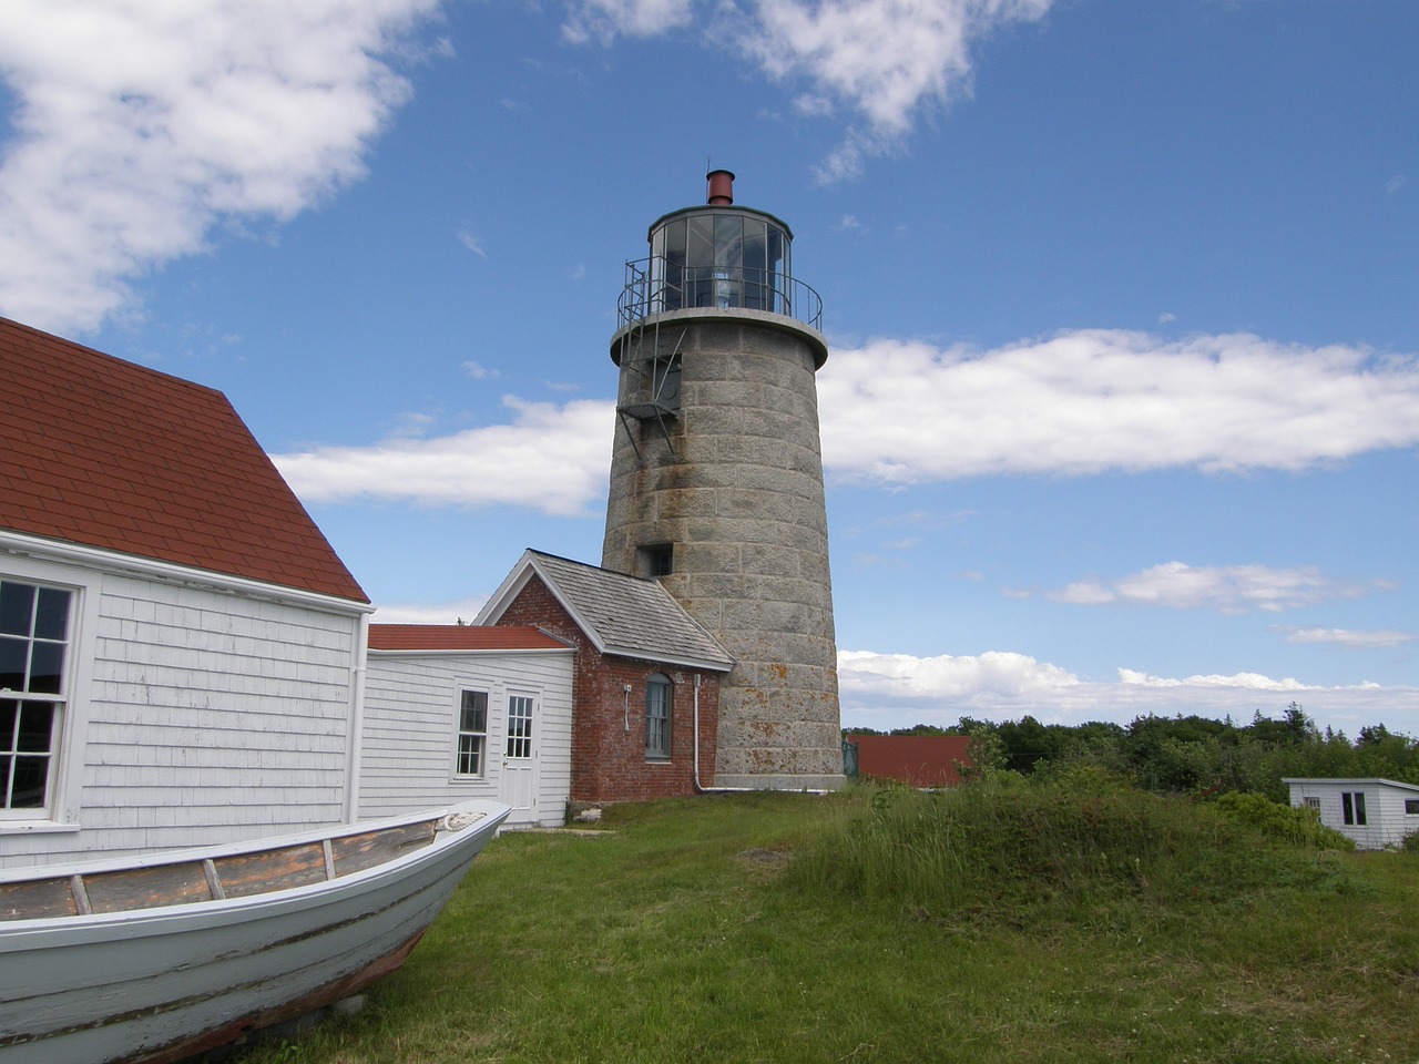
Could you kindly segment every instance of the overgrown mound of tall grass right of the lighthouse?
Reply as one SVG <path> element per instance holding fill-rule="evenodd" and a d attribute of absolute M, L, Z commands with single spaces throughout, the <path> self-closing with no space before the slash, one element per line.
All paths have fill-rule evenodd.
<path fill-rule="evenodd" d="M 1155 921 L 1279 890 L 1354 890 L 1320 848 L 1279 844 L 1223 809 L 1098 779 L 1009 775 L 946 792 L 873 789 L 795 860 L 790 882 L 918 915 L 1029 925 Z"/>

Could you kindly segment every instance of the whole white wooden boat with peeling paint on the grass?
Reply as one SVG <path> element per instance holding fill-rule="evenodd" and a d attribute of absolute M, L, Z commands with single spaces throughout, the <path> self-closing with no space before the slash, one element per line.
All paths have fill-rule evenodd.
<path fill-rule="evenodd" d="M 0 872 L 0 1064 L 179 1061 L 403 963 L 511 810 Z"/>

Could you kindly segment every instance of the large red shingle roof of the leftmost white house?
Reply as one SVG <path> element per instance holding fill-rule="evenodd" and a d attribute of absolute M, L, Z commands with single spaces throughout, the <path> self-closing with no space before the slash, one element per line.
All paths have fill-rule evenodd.
<path fill-rule="evenodd" d="M 226 396 L 4 318 L 0 528 L 369 602 Z"/>

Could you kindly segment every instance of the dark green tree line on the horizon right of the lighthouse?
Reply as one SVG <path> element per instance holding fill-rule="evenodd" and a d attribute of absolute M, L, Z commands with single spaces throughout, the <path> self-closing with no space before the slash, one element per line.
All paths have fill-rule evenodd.
<path fill-rule="evenodd" d="M 1419 739 L 1385 725 L 1361 728 L 1355 739 L 1325 728 L 1291 702 L 1280 721 L 1257 711 L 1249 724 L 1229 716 L 1138 716 L 1128 725 L 1093 721 L 1040 724 L 1033 716 L 996 724 L 962 716 L 949 728 L 920 724 L 891 732 L 853 728 L 853 735 L 969 735 L 976 772 L 1064 776 L 1103 769 L 1159 793 L 1243 792 L 1288 802 L 1287 776 L 1379 776 L 1419 783 Z"/>

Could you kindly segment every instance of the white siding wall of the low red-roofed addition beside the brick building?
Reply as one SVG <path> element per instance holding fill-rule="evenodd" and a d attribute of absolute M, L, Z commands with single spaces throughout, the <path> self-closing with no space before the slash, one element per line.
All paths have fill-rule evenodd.
<path fill-rule="evenodd" d="M 573 651 L 468 651 L 438 655 L 370 651 L 365 675 L 360 816 L 392 816 L 465 797 L 505 800 L 501 752 L 508 694 L 538 701 L 534 756 L 538 792 L 531 814 L 509 826 L 553 827 L 572 789 Z M 488 692 L 484 779 L 454 775 L 460 692 Z"/>

